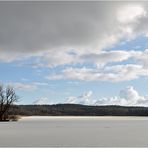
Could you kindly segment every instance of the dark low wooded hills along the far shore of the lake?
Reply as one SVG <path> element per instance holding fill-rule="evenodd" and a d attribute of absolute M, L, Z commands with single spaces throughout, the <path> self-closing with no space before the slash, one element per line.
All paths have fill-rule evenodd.
<path fill-rule="evenodd" d="M 25 116 L 148 116 L 148 107 L 79 104 L 14 105 L 9 110 L 9 114 Z"/>

